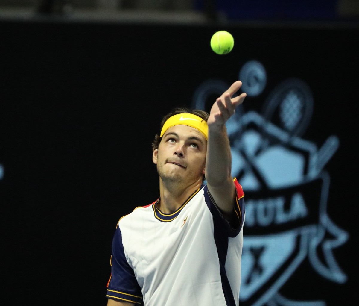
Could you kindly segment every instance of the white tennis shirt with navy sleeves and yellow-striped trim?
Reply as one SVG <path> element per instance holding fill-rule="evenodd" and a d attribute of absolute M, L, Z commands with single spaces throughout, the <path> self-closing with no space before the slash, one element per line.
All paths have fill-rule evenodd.
<path fill-rule="evenodd" d="M 202 185 L 182 207 L 154 203 L 118 221 L 107 297 L 145 306 L 238 306 L 244 193 L 236 178 L 232 229 Z"/>

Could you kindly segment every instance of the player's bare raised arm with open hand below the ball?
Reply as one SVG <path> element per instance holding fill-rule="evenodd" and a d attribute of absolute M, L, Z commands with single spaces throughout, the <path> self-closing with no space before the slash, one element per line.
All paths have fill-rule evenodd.
<path fill-rule="evenodd" d="M 247 96 L 242 93 L 232 98 L 242 82 L 234 82 L 213 104 L 208 118 L 208 146 L 206 156 L 206 180 L 218 208 L 225 217 L 230 217 L 234 207 L 235 187 L 231 175 L 232 156 L 225 123 L 234 114 L 235 108 Z"/>

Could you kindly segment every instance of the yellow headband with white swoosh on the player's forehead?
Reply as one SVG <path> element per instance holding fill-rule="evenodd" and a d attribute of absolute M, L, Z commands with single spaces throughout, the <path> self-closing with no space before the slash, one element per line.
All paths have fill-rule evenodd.
<path fill-rule="evenodd" d="M 208 140 L 208 125 L 205 120 L 201 117 L 190 114 L 190 113 L 180 113 L 169 117 L 161 130 L 160 137 L 163 136 L 164 132 L 167 131 L 170 127 L 174 125 L 188 125 L 194 127 L 196 130 L 199 130 L 205 138 Z"/>

